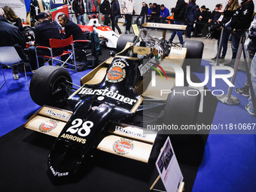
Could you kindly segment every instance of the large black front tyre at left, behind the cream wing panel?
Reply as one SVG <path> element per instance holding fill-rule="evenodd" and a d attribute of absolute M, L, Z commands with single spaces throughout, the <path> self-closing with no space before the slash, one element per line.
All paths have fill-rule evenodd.
<path fill-rule="evenodd" d="M 56 66 L 42 66 L 30 81 L 29 93 L 38 105 L 62 107 L 66 105 L 68 94 L 63 84 L 72 82 L 66 69 Z"/>

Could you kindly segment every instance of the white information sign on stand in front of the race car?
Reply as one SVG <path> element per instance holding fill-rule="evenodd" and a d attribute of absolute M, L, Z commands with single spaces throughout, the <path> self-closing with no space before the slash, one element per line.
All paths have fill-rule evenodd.
<path fill-rule="evenodd" d="M 156 166 L 160 178 L 163 181 L 163 186 L 166 188 L 166 192 L 178 192 L 183 190 L 183 175 L 178 166 L 178 160 L 175 157 L 169 137 L 166 139 L 166 142 L 160 151 Z M 155 183 L 156 182 L 157 181 L 155 181 Z"/>

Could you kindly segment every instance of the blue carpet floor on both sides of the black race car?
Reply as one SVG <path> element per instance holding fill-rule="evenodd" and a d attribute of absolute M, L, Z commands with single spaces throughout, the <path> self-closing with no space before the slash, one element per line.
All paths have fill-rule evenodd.
<path fill-rule="evenodd" d="M 203 61 L 203 66 L 209 62 Z M 195 72 L 201 81 L 204 80 L 203 66 Z M 37 111 L 36 105 L 29 96 L 24 73 L 14 81 L 11 69 L 4 69 L 7 83 L 0 90 L 0 136 L 21 126 Z M 73 82 L 80 84 L 80 78 L 87 72 L 71 72 Z M 28 73 L 30 81 L 32 73 Z M 246 80 L 245 72 L 238 72 L 235 86 L 243 87 Z M 0 73 L 0 84 L 4 81 Z M 216 87 L 207 84 L 209 90 L 227 90 L 223 81 L 217 81 Z M 217 123 L 255 123 L 254 117 L 245 111 L 248 98 L 240 96 L 233 90 L 233 96 L 240 100 L 239 105 L 230 106 L 218 103 L 213 124 Z M 209 134 L 204 151 L 203 162 L 197 172 L 193 191 L 255 191 L 256 183 L 256 145 L 254 135 Z"/>

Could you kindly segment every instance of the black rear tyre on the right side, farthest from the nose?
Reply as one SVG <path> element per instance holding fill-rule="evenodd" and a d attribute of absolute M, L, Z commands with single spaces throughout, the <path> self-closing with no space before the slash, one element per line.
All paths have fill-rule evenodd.
<path fill-rule="evenodd" d="M 187 48 L 186 59 L 184 61 L 185 66 L 190 66 L 191 69 L 198 69 L 201 66 L 203 47 L 202 41 L 184 41 L 182 47 Z"/>

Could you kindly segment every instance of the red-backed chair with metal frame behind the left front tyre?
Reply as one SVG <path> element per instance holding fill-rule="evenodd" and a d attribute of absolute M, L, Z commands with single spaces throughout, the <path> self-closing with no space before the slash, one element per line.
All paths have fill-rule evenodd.
<path fill-rule="evenodd" d="M 50 41 L 50 47 L 43 47 L 43 46 L 35 47 L 35 56 L 36 56 L 36 62 L 38 64 L 38 68 L 39 68 L 39 63 L 38 63 L 38 56 L 39 56 L 39 57 L 47 58 L 48 61 L 51 59 L 52 63 L 53 63 L 53 60 L 55 60 L 57 62 L 60 62 L 60 63 L 62 63 L 62 65 L 60 67 L 65 68 L 65 69 L 69 69 L 69 68 L 66 68 L 64 66 L 65 64 L 68 64 L 69 66 L 74 66 L 75 69 L 69 69 L 69 70 L 74 70 L 75 72 L 77 72 L 77 66 L 76 66 L 76 63 L 75 63 L 75 48 L 74 48 L 74 41 L 73 41 L 72 35 L 69 38 L 66 38 L 66 39 L 50 38 L 49 41 Z M 63 53 L 61 55 L 53 56 L 53 48 L 67 47 L 69 45 L 71 45 L 71 47 L 72 47 L 71 51 L 63 50 Z M 50 50 L 50 56 L 38 55 L 37 49 Z M 56 57 L 64 56 L 64 55 L 69 55 L 69 57 L 65 61 L 62 61 L 62 60 L 56 58 Z M 71 58 L 73 59 L 73 63 L 68 62 L 68 60 L 71 59 Z"/>

